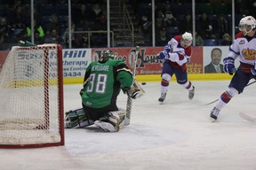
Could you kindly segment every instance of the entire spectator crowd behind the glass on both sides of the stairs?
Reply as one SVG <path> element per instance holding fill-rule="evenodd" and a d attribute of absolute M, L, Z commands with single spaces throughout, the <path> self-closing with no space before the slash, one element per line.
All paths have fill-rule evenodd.
<path fill-rule="evenodd" d="M 0 5 L 0 50 L 8 49 L 10 44 L 17 42 L 17 39 L 22 38 L 29 41 L 31 38 L 31 33 L 29 35 L 29 30 L 31 31 L 29 28 L 29 2 L 2 1 Z M 34 2 L 36 3 L 35 42 L 58 42 L 63 44 L 64 48 L 67 47 L 68 37 L 65 34 L 68 29 L 67 2 L 61 0 L 38 0 Z M 73 31 L 107 30 L 106 1 L 88 0 L 86 4 L 82 0 L 73 0 L 71 2 Z M 151 0 L 127 0 L 127 2 L 132 5 L 133 14 L 138 19 L 141 30 L 145 33 L 145 38 L 149 39 L 148 44 L 145 44 L 145 46 L 152 45 L 150 44 L 151 35 L 148 35 L 148 30 L 146 30 L 146 28 L 150 29 L 150 27 L 145 27 L 148 22 L 152 22 Z M 192 32 L 191 1 L 158 0 L 155 2 L 156 39 L 159 39 L 159 42 L 156 41 L 156 46 L 162 46 L 174 35 L 180 35 L 185 31 Z M 240 1 L 237 1 L 236 4 L 238 2 Z M 245 15 L 255 15 L 256 4 L 248 5 L 241 5 L 239 9 L 237 7 L 236 26 Z M 232 34 L 231 9 L 231 1 L 196 0 L 196 45 L 228 45 L 232 42 L 230 36 Z M 227 38 L 227 41 L 225 38 Z M 91 47 L 107 45 L 105 35 L 94 35 L 94 37 L 91 37 L 91 41 Z M 7 45 L 4 46 L 4 44 Z M 72 35 L 72 44 L 74 48 L 88 47 L 88 35 Z"/>

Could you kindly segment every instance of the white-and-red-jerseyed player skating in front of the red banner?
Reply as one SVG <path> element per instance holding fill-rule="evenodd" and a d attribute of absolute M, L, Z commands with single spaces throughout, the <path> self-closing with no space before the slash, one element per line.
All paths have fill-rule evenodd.
<path fill-rule="evenodd" d="M 191 81 L 188 81 L 188 73 L 186 64 L 191 58 L 192 35 L 188 32 L 183 35 L 175 35 L 171 41 L 164 47 L 164 51 L 160 52 L 157 57 L 164 60 L 161 81 L 161 96 L 158 101 L 160 104 L 164 102 L 166 97 L 169 81 L 175 74 L 177 82 L 185 89 L 188 89 L 188 98 L 192 99 L 195 93 L 195 87 Z"/>

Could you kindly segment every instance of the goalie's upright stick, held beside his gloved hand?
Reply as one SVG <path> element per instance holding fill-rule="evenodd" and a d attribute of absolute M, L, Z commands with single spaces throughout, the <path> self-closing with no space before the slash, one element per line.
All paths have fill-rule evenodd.
<path fill-rule="evenodd" d="M 137 66 L 137 59 L 139 54 L 140 47 L 136 46 L 135 50 L 135 57 L 133 59 L 133 67 L 132 67 L 132 77 L 133 80 L 135 79 L 135 73 L 136 73 L 136 66 Z M 131 113 L 132 113 L 132 97 L 127 97 L 127 103 L 126 103 L 126 116 L 124 119 L 124 126 L 128 126 L 131 121 Z"/>

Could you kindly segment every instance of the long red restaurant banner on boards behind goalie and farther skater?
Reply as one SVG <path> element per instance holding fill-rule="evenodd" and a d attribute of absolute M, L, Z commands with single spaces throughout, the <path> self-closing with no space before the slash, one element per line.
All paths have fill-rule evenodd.
<path fill-rule="evenodd" d="M 102 50 L 112 50 L 116 58 L 124 61 L 130 68 L 133 66 L 135 48 L 110 48 L 92 50 L 92 61 L 98 60 Z M 138 55 L 136 74 L 160 74 L 163 61 L 156 55 L 164 50 L 163 47 L 141 47 Z M 188 73 L 203 73 L 203 47 L 192 47 L 192 57 L 187 64 Z"/>

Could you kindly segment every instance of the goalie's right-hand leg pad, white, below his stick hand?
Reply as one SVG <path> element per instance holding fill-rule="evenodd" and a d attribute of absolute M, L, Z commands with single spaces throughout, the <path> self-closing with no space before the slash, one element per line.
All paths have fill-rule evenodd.
<path fill-rule="evenodd" d="M 124 127 L 125 114 L 124 111 L 108 112 L 100 120 L 94 121 L 94 125 L 104 132 L 118 132 L 119 129 Z"/>

